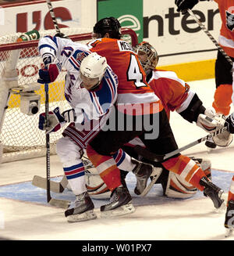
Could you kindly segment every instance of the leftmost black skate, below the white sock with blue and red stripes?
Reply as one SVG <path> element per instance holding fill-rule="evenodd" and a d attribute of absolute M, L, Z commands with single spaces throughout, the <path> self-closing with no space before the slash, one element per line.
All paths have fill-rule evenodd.
<path fill-rule="evenodd" d="M 65 211 L 68 222 L 82 222 L 97 218 L 94 213 L 94 204 L 87 192 L 76 196 L 76 200 Z"/>

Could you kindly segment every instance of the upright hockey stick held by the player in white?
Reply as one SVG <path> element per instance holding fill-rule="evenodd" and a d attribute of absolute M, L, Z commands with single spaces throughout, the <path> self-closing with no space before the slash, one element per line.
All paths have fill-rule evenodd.
<path fill-rule="evenodd" d="M 44 96 L 45 96 L 45 127 L 48 128 L 48 114 L 49 114 L 49 96 L 48 96 L 48 84 L 44 85 Z M 47 202 L 53 206 L 67 208 L 69 206 L 68 200 L 60 200 L 51 197 L 51 182 L 50 182 L 50 135 L 48 132 L 45 132 L 46 139 L 46 192 L 47 192 Z"/>

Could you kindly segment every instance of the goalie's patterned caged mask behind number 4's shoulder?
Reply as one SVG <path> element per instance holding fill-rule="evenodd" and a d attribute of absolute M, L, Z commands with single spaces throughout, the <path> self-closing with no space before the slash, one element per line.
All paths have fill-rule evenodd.
<path fill-rule="evenodd" d="M 154 70 L 154 68 L 157 67 L 158 52 L 147 41 L 142 41 L 139 45 L 136 45 L 134 50 L 140 59 L 144 71 L 149 69 Z"/>

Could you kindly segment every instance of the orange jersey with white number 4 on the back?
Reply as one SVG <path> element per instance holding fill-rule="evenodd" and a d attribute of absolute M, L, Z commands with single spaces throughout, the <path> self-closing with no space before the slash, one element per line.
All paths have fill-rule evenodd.
<path fill-rule="evenodd" d="M 157 113 L 163 109 L 161 101 L 147 84 L 146 74 L 131 45 L 119 39 L 98 38 L 90 41 L 88 46 L 91 52 L 105 56 L 108 65 L 118 76 L 117 105 L 119 110 L 123 110 L 128 104 L 140 106 L 139 114 L 143 105 L 144 114 Z M 136 111 L 134 113 L 138 114 L 138 110 Z"/>

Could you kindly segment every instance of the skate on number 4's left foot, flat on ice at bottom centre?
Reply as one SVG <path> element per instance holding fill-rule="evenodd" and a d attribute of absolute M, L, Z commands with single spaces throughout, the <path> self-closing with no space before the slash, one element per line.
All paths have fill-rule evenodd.
<path fill-rule="evenodd" d="M 126 187 L 119 186 L 112 191 L 109 204 L 101 206 L 101 218 L 129 215 L 135 211 L 131 203 L 132 197 Z"/>

